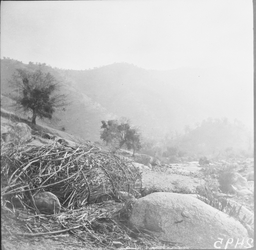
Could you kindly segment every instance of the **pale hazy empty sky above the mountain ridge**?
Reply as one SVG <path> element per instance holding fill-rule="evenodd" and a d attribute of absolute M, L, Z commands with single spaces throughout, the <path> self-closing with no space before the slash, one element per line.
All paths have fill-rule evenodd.
<path fill-rule="evenodd" d="M 253 72 L 252 0 L 2 1 L 1 58 Z"/>

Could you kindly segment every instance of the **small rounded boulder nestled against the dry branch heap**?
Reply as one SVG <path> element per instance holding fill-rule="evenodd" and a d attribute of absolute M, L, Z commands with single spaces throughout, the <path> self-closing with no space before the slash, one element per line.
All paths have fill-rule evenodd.
<path fill-rule="evenodd" d="M 41 192 L 34 196 L 35 206 L 42 213 L 57 214 L 61 210 L 58 197 L 51 192 Z"/>

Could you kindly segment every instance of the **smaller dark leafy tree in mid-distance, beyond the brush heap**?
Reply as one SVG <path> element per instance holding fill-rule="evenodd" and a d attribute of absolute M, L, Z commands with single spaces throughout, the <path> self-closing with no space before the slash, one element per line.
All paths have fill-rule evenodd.
<path fill-rule="evenodd" d="M 101 121 L 102 126 L 100 138 L 106 142 L 107 145 L 116 145 L 115 149 L 126 146 L 128 150 L 133 149 L 133 155 L 135 150 L 141 148 L 140 137 L 138 128 L 131 127 L 130 120 L 127 118 L 121 118 L 119 120 Z"/>

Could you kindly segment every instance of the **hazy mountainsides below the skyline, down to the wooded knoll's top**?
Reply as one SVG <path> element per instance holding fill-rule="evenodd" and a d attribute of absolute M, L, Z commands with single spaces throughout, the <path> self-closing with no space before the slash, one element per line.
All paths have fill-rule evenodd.
<path fill-rule="evenodd" d="M 1 59 L 1 93 L 8 96 L 7 79 L 15 68 L 38 65 Z M 237 118 L 253 125 L 252 74 L 224 69 L 145 70 L 116 63 L 91 70 L 62 70 L 41 66 L 62 81 L 62 92 L 73 104 L 55 128 L 90 140 L 99 139 L 101 120 L 127 117 L 146 137 L 162 137 L 170 130 L 208 117 Z M 242 87 L 241 82 L 244 82 Z M 251 85 L 250 85 L 251 82 Z M 235 94 L 239 93 L 239 94 Z"/>

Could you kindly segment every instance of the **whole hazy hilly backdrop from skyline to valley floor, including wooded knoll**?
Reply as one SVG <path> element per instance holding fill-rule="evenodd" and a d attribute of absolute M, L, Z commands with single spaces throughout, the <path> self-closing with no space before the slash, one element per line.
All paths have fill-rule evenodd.
<path fill-rule="evenodd" d="M 235 115 L 242 118 L 241 113 L 251 112 L 251 107 L 244 110 L 240 105 L 247 105 L 250 89 L 240 91 L 236 99 L 221 92 L 224 86 L 237 90 L 242 80 L 239 72 L 154 71 L 127 63 L 77 71 L 53 68 L 46 63 L 1 59 L 1 108 L 31 120 L 33 112 L 24 115 L 13 105 L 17 86 L 10 84 L 10 80 L 17 69 L 41 71 L 58 82 L 58 94 L 66 97 L 63 101 L 70 105 L 65 112 L 56 110 L 51 121 L 45 120 L 44 124 L 83 139 L 115 145 L 115 136 L 111 142 L 105 137 L 105 132 L 111 131 L 108 122 L 126 117 L 130 119 L 129 125 L 139 130 L 140 140 L 122 146 L 151 156 L 215 157 L 224 152 L 252 152 L 253 133 L 248 128 L 251 123 L 235 119 Z M 225 118 L 226 114 L 230 117 Z"/>

